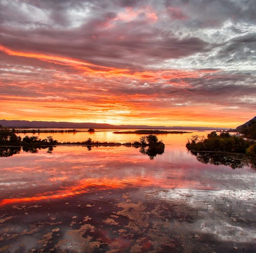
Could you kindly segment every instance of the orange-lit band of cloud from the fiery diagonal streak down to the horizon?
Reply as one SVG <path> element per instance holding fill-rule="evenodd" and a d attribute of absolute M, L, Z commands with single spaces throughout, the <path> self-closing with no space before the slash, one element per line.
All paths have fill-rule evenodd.
<path fill-rule="evenodd" d="M 236 127 L 253 116 L 248 108 L 236 110 L 236 116 L 230 114 L 232 107 L 218 104 L 225 100 L 217 100 L 210 85 L 201 85 L 204 79 L 215 83 L 215 79 L 230 78 L 219 70 L 138 71 L 20 52 L 3 45 L 0 50 L 58 66 L 38 70 L 6 67 L 5 84 L 0 81 L 4 119 Z M 66 66 L 74 71 L 66 71 Z M 202 86 L 200 90 L 191 84 L 194 80 Z M 224 94 L 217 88 L 214 92 Z"/>

